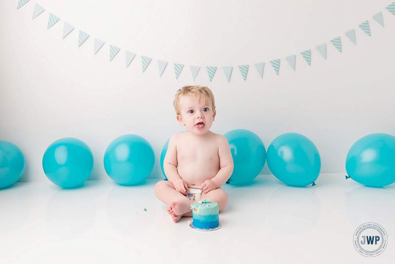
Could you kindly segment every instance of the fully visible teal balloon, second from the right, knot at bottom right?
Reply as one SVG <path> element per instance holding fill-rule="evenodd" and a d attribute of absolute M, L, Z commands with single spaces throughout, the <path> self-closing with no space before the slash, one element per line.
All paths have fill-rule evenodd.
<path fill-rule="evenodd" d="M 268 147 L 269 170 L 280 181 L 293 186 L 314 183 L 319 176 L 321 159 L 316 145 L 298 133 L 277 136 Z"/>

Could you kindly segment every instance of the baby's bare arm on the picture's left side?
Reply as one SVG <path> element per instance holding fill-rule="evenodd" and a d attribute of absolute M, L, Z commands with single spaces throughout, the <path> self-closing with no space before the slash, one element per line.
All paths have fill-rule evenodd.
<path fill-rule="evenodd" d="M 173 134 L 169 139 L 167 152 L 163 160 L 163 171 L 176 190 L 182 194 L 187 194 L 188 185 L 177 172 L 177 137 L 177 134 Z"/>

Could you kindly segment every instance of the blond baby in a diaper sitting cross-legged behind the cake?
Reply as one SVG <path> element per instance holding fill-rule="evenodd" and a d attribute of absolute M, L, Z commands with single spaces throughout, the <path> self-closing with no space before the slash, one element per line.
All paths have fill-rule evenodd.
<path fill-rule="evenodd" d="M 220 187 L 232 175 L 233 159 L 226 138 L 210 131 L 216 111 L 209 88 L 184 86 L 173 105 L 187 131 L 170 137 L 163 161 L 168 181 L 155 185 L 155 195 L 177 222 L 192 217 L 191 204 L 198 200 L 217 202 L 220 211 L 225 208 L 228 195 Z"/>

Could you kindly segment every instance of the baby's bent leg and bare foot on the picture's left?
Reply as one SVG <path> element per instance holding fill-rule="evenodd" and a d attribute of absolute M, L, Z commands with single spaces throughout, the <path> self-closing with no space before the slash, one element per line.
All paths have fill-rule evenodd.
<path fill-rule="evenodd" d="M 155 185 L 155 195 L 163 203 L 167 204 L 167 213 L 174 222 L 181 217 L 192 217 L 191 204 L 194 201 L 189 200 L 182 193 L 177 191 L 169 181 L 159 181 Z"/>

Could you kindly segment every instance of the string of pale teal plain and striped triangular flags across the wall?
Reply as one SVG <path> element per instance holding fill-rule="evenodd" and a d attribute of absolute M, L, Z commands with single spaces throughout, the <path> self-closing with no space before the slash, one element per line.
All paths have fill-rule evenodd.
<path fill-rule="evenodd" d="M 18 6 L 17 9 L 19 9 L 21 6 L 25 5 L 27 2 L 30 0 L 18 0 Z M 388 10 L 390 13 L 395 15 L 395 2 L 391 3 L 387 7 L 385 7 L 386 10 Z M 33 10 L 33 16 L 32 20 L 35 19 L 37 16 L 39 16 L 41 13 L 45 11 L 45 8 L 40 6 L 39 4 L 35 3 L 34 10 Z M 372 16 L 372 19 L 375 20 L 377 23 L 379 23 L 382 27 L 384 27 L 384 19 L 383 19 L 383 14 L 382 12 L 378 12 L 377 14 Z M 47 29 L 51 28 L 56 22 L 58 22 L 60 19 L 53 13 L 49 13 L 49 18 L 48 18 L 48 24 L 47 24 Z M 369 20 L 365 20 L 364 22 L 359 22 L 360 24 L 358 27 L 365 32 L 369 37 L 371 37 L 371 31 L 370 31 L 370 22 Z M 64 27 L 63 27 L 63 33 L 62 33 L 62 39 L 65 38 L 71 31 L 74 30 L 74 26 L 70 25 L 67 22 L 64 22 Z M 347 31 L 344 34 L 352 43 L 356 45 L 356 33 L 355 29 L 351 29 Z M 85 40 L 89 37 L 88 34 L 85 32 L 79 30 L 79 37 L 78 37 L 78 46 L 83 44 Z M 337 38 L 334 38 L 329 41 L 334 45 L 334 47 L 341 53 L 342 52 L 342 44 L 341 44 L 341 36 L 338 36 Z M 94 39 L 94 47 L 93 47 L 93 54 L 96 54 L 99 49 L 105 44 L 104 41 L 99 40 L 97 38 Z M 316 49 L 318 52 L 321 54 L 321 56 L 326 60 L 326 43 L 320 44 L 316 46 Z M 116 47 L 114 45 L 110 45 L 110 61 L 113 60 L 113 58 L 117 55 L 118 51 L 120 50 L 119 47 Z M 126 68 L 129 66 L 129 64 L 133 61 L 133 58 L 136 56 L 136 53 L 125 51 L 125 62 L 126 62 Z M 305 59 L 307 64 L 311 66 L 311 56 L 312 52 L 311 49 L 307 49 L 305 51 L 301 51 L 300 55 Z M 283 58 L 276 59 L 276 60 L 271 60 L 270 63 L 275 70 L 276 75 L 279 75 L 279 70 L 280 70 L 280 61 Z M 295 61 L 296 61 L 296 54 L 286 56 L 285 57 L 286 61 L 288 62 L 289 66 L 293 71 L 296 71 L 295 67 Z M 146 57 L 146 56 L 141 56 L 141 64 L 142 64 L 142 70 L 143 73 L 147 69 L 148 65 L 150 64 L 152 58 Z M 168 61 L 162 61 L 162 60 L 157 60 L 158 62 L 158 74 L 159 77 L 162 76 L 167 64 L 169 63 Z M 176 80 L 178 80 L 178 77 L 180 76 L 182 69 L 184 68 L 184 64 L 179 64 L 179 63 L 173 63 L 174 65 L 174 72 L 175 72 L 175 77 Z M 263 79 L 263 71 L 264 71 L 264 65 L 265 62 L 260 62 L 260 63 L 255 63 L 254 66 L 257 70 L 257 73 L 261 79 Z M 191 74 L 192 74 L 192 79 L 195 81 L 197 78 L 197 74 L 199 73 L 199 70 L 201 67 L 204 66 L 194 66 L 190 65 L 191 68 Z M 234 66 L 222 66 L 222 70 L 224 71 L 225 78 L 227 82 L 229 83 L 231 75 L 232 75 L 232 70 Z M 249 64 L 244 64 L 244 65 L 238 65 L 237 66 L 241 77 L 243 78 L 244 81 L 247 79 L 247 74 L 248 74 L 248 67 Z M 207 70 L 207 76 L 209 81 L 211 82 L 215 72 L 217 70 L 217 66 L 205 66 Z"/>

